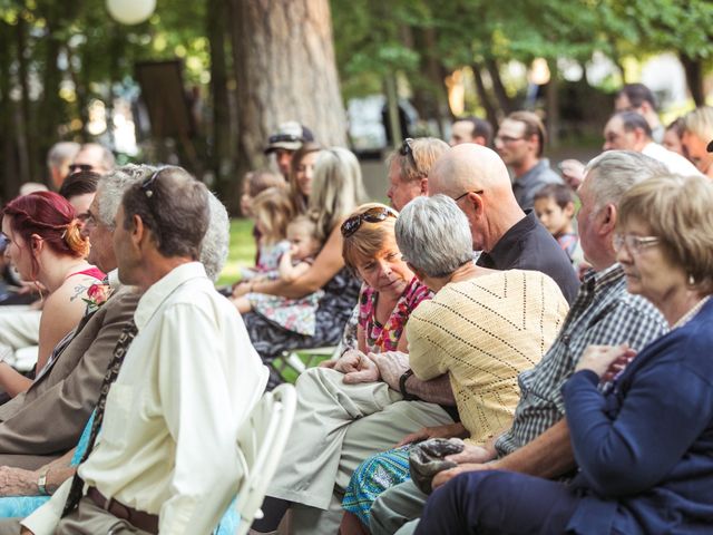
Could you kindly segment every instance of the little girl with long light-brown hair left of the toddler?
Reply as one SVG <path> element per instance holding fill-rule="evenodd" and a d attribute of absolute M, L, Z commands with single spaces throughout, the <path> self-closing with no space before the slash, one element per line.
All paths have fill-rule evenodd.
<path fill-rule="evenodd" d="M 268 187 L 253 200 L 251 210 L 260 232 L 258 261 L 255 268 L 243 270 L 243 279 L 276 279 L 280 259 L 290 250 L 286 234 L 293 213 L 287 189 Z"/>

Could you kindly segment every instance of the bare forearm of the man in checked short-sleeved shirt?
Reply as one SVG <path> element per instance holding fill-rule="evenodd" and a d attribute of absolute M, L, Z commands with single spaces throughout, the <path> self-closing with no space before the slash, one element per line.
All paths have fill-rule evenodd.
<path fill-rule="evenodd" d="M 567 474 L 576 466 L 567 420 L 563 418 L 535 440 L 496 460 L 491 466 L 494 469 L 550 479 Z"/>

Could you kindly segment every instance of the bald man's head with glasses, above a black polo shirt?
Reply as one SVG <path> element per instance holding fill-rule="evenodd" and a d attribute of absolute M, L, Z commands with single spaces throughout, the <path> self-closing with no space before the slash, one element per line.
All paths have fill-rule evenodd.
<path fill-rule="evenodd" d="M 457 145 L 447 150 L 431 167 L 428 189 L 429 195 L 441 193 L 457 200 L 478 251 L 490 251 L 525 216 L 505 163 L 480 145 Z"/>

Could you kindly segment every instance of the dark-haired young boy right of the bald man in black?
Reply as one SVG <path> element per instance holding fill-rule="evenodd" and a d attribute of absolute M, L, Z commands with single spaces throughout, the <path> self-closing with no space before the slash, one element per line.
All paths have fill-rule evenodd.
<path fill-rule="evenodd" d="M 584 263 L 584 252 L 573 221 L 575 198 L 572 189 L 564 184 L 548 184 L 543 187 L 535 194 L 535 213 L 567 253 L 575 271 L 579 272 L 579 265 Z"/>

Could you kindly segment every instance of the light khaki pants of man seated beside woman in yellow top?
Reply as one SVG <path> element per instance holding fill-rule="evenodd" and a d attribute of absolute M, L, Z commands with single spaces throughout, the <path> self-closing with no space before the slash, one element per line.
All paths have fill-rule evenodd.
<path fill-rule="evenodd" d="M 344 385 L 312 368 L 297 380 L 297 410 L 268 496 L 294 502 L 294 534 L 334 534 L 341 495 L 361 461 L 422 427 L 452 424 L 438 405 L 403 401 L 383 382 Z"/>

